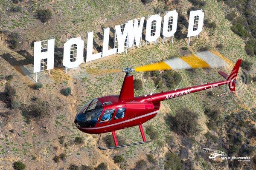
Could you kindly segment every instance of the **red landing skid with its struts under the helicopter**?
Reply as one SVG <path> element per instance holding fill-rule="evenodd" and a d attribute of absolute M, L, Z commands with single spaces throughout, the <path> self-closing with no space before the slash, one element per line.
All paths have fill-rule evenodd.
<path fill-rule="evenodd" d="M 113 147 L 98 147 L 98 148 L 101 149 L 101 150 L 115 149 L 115 148 L 119 148 L 119 147 L 132 146 L 132 145 L 144 144 L 144 143 L 151 142 L 151 141 L 146 141 L 146 138 L 145 138 L 145 134 L 144 134 L 142 125 L 139 125 L 139 128 L 140 128 L 140 133 L 141 133 L 143 142 L 137 142 L 137 143 L 132 143 L 132 144 L 119 145 L 119 144 L 118 144 L 118 141 L 117 141 L 117 138 L 116 138 L 116 133 L 115 133 L 115 131 L 112 131 L 111 133 L 112 133 L 112 136 L 113 136 L 113 139 L 114 139 L 114 142 L 115 142 L 115 145 L 116 145 L 116 146 L 113 146 Z"/>

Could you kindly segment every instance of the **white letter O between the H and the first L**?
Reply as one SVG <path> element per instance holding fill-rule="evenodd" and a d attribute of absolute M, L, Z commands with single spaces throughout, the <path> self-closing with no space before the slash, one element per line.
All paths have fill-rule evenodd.
<path fill-rule="evenodd" d="M 84 41 L 71 38 L 64 44 L 63 65 L 67 68 L 79 67 L 84 61 Z"/>

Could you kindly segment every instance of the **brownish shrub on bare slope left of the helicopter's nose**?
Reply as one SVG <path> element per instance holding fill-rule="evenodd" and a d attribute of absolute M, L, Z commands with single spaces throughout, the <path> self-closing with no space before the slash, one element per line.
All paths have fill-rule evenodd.
<path fill-rule="evenodd" d="M 48 104 L 45 101 L 38 100 L 28 108 L 26 108 L 26 115 L 28 118 L 40 119 L 48 115 Z"/>

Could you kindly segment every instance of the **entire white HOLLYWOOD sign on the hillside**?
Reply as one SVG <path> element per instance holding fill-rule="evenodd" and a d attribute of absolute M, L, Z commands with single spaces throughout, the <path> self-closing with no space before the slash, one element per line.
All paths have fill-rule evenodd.
<path fill-rule="evenodd" d="M 87 33 L 87 54 L 86 61 L 89 62 L 113 54 L 127 52 L 128 48 L 142 45 L 142 34 L 145 17 L 129 20 L 127 23 L 115 26 L 114 48 L 109 49 L 110 28 L 104 29 L 102 52 L 93 54 L 93 32 Z M 145 41 L 157 43 L 160 34 L 165 38 L 173 37 L 177 31 L 178 13 L 176 10 L 166 12 L 163 17 L 159 14 L 151 15 L 146 20 Z M 190 37 L 198 36 L 203 29 L 204 12 L 202 10 L 190 11 L 188 26 L 188 45 Z M 162 28 L 161 28 L 162 27 Z M 53 69 L 54 67 L 54 45 L 55 40 L 44 40 L 34 43 L 34 73 Z M 63 66 L 66 68 L 76 68 L 84 62 L 84 41 L 81 38 L 67 39 L 64 44 Z"/>

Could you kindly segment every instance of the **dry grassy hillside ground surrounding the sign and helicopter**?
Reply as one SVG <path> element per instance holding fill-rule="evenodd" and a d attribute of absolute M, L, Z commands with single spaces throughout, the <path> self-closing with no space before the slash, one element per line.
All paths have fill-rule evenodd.
<path fill-rule="evenodd" d="M 194 5 L 188 0 L 153 0 L 147 4 L 140 0 L 23 0 L 18 4 L 0 0 L 0 169 L 13 169 L 15 161 L 22 161 L 28 170 L 72 170 L 76 165 L 103 170 L 102 162 L 109 170 L 255 169 L 256 83 L 252 77 L 256 73 L 256 57 L 247 54 L 245 40 L 230 29 L 232 23 L 226 19 L 230 7 L 223 1 L 204 2 L 196 8 L 202 8 L 205 20 L 216 23 L 216 27 L 204 26 L 199 38 L 193 37 L 185 52 L 181 48 L 187 47 L 187 39 L 175 37 L 174 44 L 162 44 L 159 39 L 157 45 L 144 45 L 129 49 L 127 54 L 83 63 L 80 68 L 69 69 L 67 74 L 55 63 L 51 74 L 38 74 L 43 87 L 36 90 L 33 87 L 35 74 L 24 72 L 24 68 L 32 71 L 33 41 L 55 38 L 56 47 L 61 49 L 66 38 L 82 37 L 86 42 L 88 31 L 102 34 L 102 28 L 165 10 L 177 9 L 178 14 L 188 20 L 187 11 Z M 13 12 L 12 8 L 17 5 L 21 6 L 21 11 Z M 47 23 L 36 17 L 36 11 L 41 8 L 52 11 Z M 18 34 L 14 49 L 9 48 L 11 33 Z M 101 46 L 99 34 L 95 41 Z M 99 150 L 99 145 L 107 145 L 111 133 L 90 135 L 75 127 L 73 121 L 82 105 L 99 96 L 119 94 L 124 73 L 112 72 L 112 69 L 134 68 L 202 49 L 218 51 L 218 55 L 229 59 L 229 67 L 221 70 L 228 74 L 238 58 L 252 64 L 249 70 L 241 68 L 243 71 L 239 71 L 239 77 L 245 75 L 248 80 L 245 84 L 239 78 L 241 85 L 237 90 L 241 92 L 214 96 L 210 91 L 202 91 L 161 102 L 157 116 L 143 124 L 146 139 L 152 138 L 152 133 L 158 136 L 148 144 Z M 217 71 L 219 69 L 179 70 L 177 73 L 183 79 L 179 88 L 223 80 Z M 8 78 L 9 75 L 13 77 Z M 134 78 L 143 82 L 143 88 L 135 90 L 135 96 L 150 94 L 155 87 L 152 76 L 140 72 L 134 73 Z M 20 103 L 16 108 L 7 99 L 5 88 L 8 84 L 16 89 L 14 99 Z M 62 89 L 68 87 L 71 95 L 64 96 Z M 163 86 L 156 92 L 168 89 Z M 227 87 L 218 87 L 214 93 L 222 94 L 227 90 Z M 39 119 L 28 114 L 35 104 L 46 105 L 47 113 Z M 195 120 L 197 133 L 180 133 L 172 127 L 170 118 L 176 113 L 184 113 L 184 108 L 198 115 Z M 215 113 L 218 116 L 212 116 Z M 138 127 L 116 133 L 125 143 L 142 140 Z M 203 152 L 204 147 L 224 150 L 233 156 L 250 156 L 251 160 L 212 161 Z M 168 153 L 172 159 L 168 159 Z M 64 155 L 56 159 L 55 156 L 61 154 Z M 115 163 L 114 156 L 122 156 L 124 160 Z"/>

